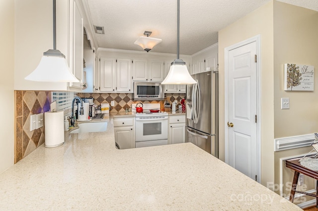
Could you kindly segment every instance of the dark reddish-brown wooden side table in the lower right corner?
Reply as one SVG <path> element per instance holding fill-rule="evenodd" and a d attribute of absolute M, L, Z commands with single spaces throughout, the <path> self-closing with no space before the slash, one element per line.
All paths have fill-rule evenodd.
<path fill-rule="evenodd" d="M 316 194 L 310 194 L 310 193 L 306 193 L 306 192 L 302 192 L 302 191 L 296 191 L 298 177 L 299 177 L 300 173 L 305 174 L 309 177 L 312 177 L 312 178 L 318 180 L 318 171 L 314 171 L 314 170 L 311 170 L 309 168 L 302 166 L 299 163 L 299 160 L 300 160 L 299 158 L 286 160 L 286 167 L 293 169 L 295 171 L 289 201 L 291 201 L 291 202 L 294 201 L 295 193 L 301 193 L 301 194 L 309 195 L 312 197 L 316 197 L 316 207 L 318 208 L 318 182 L 317 182 L 317 186 L 316 186 Z"/>

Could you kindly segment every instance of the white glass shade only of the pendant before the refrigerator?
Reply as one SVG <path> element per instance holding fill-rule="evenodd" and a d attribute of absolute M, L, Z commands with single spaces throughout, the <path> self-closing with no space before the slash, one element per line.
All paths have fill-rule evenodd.
<path fill-rule="evenodd" d="M 171 65 L 168 75 L 164 78 L 161 84 L 193 84 L 196 81 L 189 74 L 187 66 Z"/>

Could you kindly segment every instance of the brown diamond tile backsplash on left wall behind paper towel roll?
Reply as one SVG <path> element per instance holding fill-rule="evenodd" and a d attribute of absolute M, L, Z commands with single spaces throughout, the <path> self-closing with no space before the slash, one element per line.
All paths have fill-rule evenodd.
<path fill-rule="evenodd" d="M 45 142 L 44 127 L 30 131 L 30 116 L 50 110 L 50 91 L 14 91 L 15 96 L 15 152 L 18 162 Z"/>

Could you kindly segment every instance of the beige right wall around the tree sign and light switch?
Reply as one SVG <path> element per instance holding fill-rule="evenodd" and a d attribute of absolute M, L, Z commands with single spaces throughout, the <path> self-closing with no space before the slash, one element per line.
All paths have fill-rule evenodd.
<path fill-rule="evenodd" d="M 318 11 L 274 1 L 274 137 L 290 137 L 318 132 Z M 284 91 L 284 64 L 315 67 L 314 91 Z M 290 109 L 280 109 L 280 98 L 290 99 Z M 275 152 L 275 183 L 280 182 L 281 158 L 306 154 L 312 147 Z M 293 171 L 283 167 L 283 193 Z M 307 190 L 314 180 L 305 182 Z"/>

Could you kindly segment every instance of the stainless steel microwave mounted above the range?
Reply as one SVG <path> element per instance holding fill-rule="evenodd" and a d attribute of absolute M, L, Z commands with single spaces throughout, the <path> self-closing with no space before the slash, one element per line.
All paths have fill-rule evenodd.
<path fill-rule="evenodd" d="M 164 89 L 161 83 L 134 82 L 134 100 L 163 100 Z"/>

